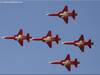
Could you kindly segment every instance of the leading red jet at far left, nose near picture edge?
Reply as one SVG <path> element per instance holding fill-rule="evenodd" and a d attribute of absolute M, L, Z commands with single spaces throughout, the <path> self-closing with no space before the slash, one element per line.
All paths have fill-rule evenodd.
<path fill-rule="evenodd" d="M 27 40 L 28 42 L 30 42 L 30 39 L 32 37 L 30 37 L 30 34 L 27 33 L 26 36 L 23 35 L 23 30 L 20 29 L 19 32 L 17 33 L 17 35 L 14 35 L 14 36 L 7 36 L 7 37 L 2 37 L 2 39 L 13 39 L 13 40 L 16 40 L 18 41 L 18 43 L 23 46 L 23 40 Z"/>

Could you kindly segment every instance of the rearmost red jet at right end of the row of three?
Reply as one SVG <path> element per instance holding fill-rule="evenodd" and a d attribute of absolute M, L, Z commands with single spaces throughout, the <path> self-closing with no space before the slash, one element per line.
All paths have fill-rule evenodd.
<path fill-rule="evenodd" d="M 91 42 L 91 39 L 89 40 L 84 40 L 84 36 L 81 35 L 79 40 L 76 40 L 74 42 L 63 42 L 63 44 L 65 45 L 75 45 L 78 46 L 81 50 L 81 52 L 84 52 L 84 46 L 88 46 L 89 48 L 91 48 L 91 45 L 93 45 L 94 43 Z"/>

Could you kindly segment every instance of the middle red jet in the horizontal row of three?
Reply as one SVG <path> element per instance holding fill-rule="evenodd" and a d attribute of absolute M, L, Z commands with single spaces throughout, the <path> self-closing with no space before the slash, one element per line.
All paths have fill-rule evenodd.
<path fill-rule="evenodd" d="M 52 48 L 52 42 L 55 41 L 57 44 L 59 44 L 59 41 L 61 39 L 58 35 L 56 35 L 56 37 L 52 37 L 52 32 L 49 31 L 46 36 L 43 36 L 41 38 L 33 38 L 32 40 L 45 42 L 48 44 L 49 48 Z"/>

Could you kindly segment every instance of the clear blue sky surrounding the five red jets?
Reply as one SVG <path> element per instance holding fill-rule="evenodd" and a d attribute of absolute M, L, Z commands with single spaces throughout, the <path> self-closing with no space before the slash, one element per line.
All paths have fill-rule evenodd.
<path fill-rule="evenodd" d="M 6 0 L 7 1 L 7 0 Z M 92 49 L 85 48 L 81 53 L 74 46 L 53 43 L 48 48 L 45 43 L 24 42 L 21 47 L 13 40 L 0 40 L 0 74 L 100 74 L 100 1 L 22 1 L 23 3 L 0 3 L 0 36 L 15 35 L 20 28 L 33 38 L 41 37 L 52 30 L 59 34 L 61 42 L 77 40 L 81 34 L 85 39 L 92 38 Z M 78 16 L 69 23 L 58 17 L 45 14 L 62 10 L 64 5 L 76 10 Z M 49 61 L 64 59 L 67 54 L 78 58 L 78 68 L 72 66 L 71 72 Z"/>

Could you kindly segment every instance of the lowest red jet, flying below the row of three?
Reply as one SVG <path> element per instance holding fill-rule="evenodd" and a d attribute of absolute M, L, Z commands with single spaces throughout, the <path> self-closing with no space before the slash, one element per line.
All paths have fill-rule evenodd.
<path fill-rule="evenodd" d="M 75 67 L 77 68 L 78 64 L 80 64 L 80 62 L 77 59 L 71 60 L 69 54 L 66 56 L 64 60 L 56 60 L 56 61 L 52 61 L 49 63 L 50 64 L 60 64 L 62 66 L 65 66 L 68 69 L 68 71 L 71 71 L 71 65 L 75 65 Z"/>

